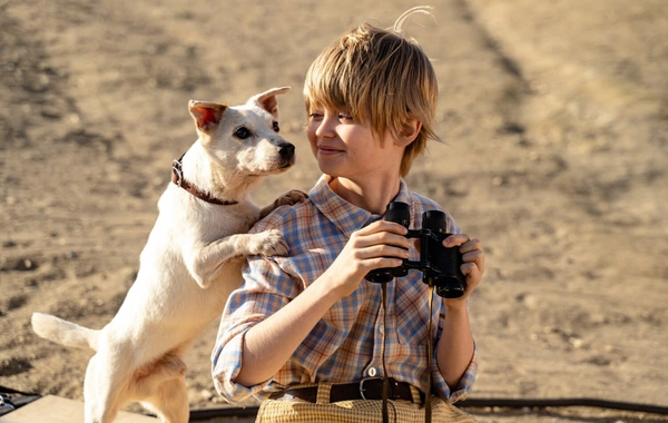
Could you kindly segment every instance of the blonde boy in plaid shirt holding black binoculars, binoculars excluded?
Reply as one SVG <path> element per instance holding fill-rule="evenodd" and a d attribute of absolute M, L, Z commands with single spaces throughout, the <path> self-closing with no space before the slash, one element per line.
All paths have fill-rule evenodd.
<path fill-rule="evenodd" d="M 379 421 L 383 383 L 396 421 L 421 419 L 425 395 L 434 421 L 473 421 L 451 403 L 477 373 L 468 298 L 484 272 L 480 242 L 446 215 L 455 235 L 443 244 L 459 246 L 464 262 L 460 298 L 435 296 L 415 270 L 386 284 L 364 279 L 418 257 L 406 229 L 383 219 L 390 201 L 410 205 L 412 227 L 423 212 L 442 210 L 402 179 L 438 139 L 438 88 L 429 59 L 400 30 L 363 24 L 344 33 L 306 76 L 306 135 L 324 175 L 305 203 L 254 227 L 279 230 L 291 252 L 248 259 L 213 353 L 216 388 L 228 402 L 269 399 L 258 422 Z"/>

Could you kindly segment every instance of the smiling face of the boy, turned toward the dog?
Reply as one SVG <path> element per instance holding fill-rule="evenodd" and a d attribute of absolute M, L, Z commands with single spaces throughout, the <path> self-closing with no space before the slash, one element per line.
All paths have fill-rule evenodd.
<path fill-rule="evenodd" d="M 404 147 L 390 131 L 381 142 L 369 120 L 360 122 L 346 111 L 314 108 L 308 116 L 306 136 L 324 174 L 357 184 L 400 176 Z"/>

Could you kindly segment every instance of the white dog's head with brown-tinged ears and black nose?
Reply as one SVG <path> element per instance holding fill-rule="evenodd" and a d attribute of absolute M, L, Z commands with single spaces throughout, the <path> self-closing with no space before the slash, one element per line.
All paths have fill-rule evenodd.
<path fill-rule="evenodd" d="M 295 163 L 295 147 L 281 135 L 277 95 L 289 87 L 253 96 L 245 105 L 229 107 L 190 100 L 199 141 L 226 173 L 262 176 L 285 171 Z"/>

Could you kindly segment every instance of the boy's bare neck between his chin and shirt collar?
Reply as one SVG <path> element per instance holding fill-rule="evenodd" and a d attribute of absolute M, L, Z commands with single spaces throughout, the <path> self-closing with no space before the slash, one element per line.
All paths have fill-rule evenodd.
<path fill-rule="evenodd" d="M 364 185 L 346 178 L 334 178 L 330 188 L 350 204 L 373 213 L 384 215 L 387 204 L 399 194 L 400 178 L 385 179 Z"/>

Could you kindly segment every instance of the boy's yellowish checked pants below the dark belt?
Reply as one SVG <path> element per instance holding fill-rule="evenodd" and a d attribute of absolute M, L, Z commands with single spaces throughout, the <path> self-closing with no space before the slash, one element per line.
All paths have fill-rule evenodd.
<path fill-rule="evenodd" d="M 442 399 L 432 396 L 432 422 L 474 423 L 473 416 Z M 310 403 L 303 401 L 266 400 L 257 413 L 256 423 L 375 423 L 382 422 L 383 402 L 380 400 L 354 400 L 337 403 Z M 389 401 L 391 422 L 424 422 L 424 406 L 407 401 Z"/>

